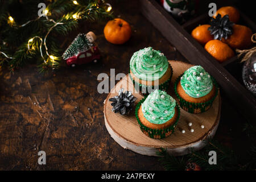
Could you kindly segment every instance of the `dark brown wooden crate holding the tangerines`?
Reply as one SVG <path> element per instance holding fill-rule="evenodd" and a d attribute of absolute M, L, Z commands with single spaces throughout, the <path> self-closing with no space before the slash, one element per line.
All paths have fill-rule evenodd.
<path fill-rule="evenodd" d="M 192 28 L 209 22 L 208 15 L 200 15 L 183 25 L 176 22 L 172 16 L 155 0 L 141 0 L 142 14 L 158 28 L 163 36 L 174 45 L 177 50 L 192 64 L 201 65 L 207 72 L 216 78 L 226 96 L 237 106 L 237 109 L 250 121 L 256 118 L 256 99 L 234 76 L 227 70 L 231 64 L 237 64 L 237 56 L 218 63 L 204 47 L 191 36 Z M 241 13 L 242 24 L 249 26 L 256 32 L 255 24 Z M 242 73 L 240 73 L 242 76 Z"/>

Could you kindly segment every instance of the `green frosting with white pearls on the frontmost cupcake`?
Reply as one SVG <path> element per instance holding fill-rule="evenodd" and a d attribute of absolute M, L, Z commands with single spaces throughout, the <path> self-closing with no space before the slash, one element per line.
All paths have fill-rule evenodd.
<path fill-rule="evenodd" d="M 142 103 L 142 112 L 147 121 L 163 124 L 174 117 L 176 101 L 166 92 L 155 90 Z"/>

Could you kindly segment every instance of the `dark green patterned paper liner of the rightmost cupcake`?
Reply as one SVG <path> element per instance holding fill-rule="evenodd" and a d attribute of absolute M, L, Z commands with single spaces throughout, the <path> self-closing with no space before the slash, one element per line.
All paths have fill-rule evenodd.
<path fill-rule="evenodd" d="M 183 73 L 184 74 L 184 73 Z M 212 78 L 213 81 L 213 85 L 215 86 L 215 94 L 214 96 L 207 102 L 201 102 L 201 103 L 193 103 L 193 102 L 188 102 L 185 101 L 183 98 L 180 97 L 180 95 L 177 93 L 177 84 L 179 84 L 180 81 L 180 77 L 183 76 L 183 74 L 181 74 L 175 81 L 174 84 L 174 92 L 177 96 L 177 100 L 179 102 L 179 105 L 182 109 L 184 109 L 185 111 L 192 113 L 192 114 L 196 114 L 196 113 L 203 113 L 205 111 L 207 111 L 208 109 L 210 109 L 210 107 L 213 104 L 213 101 L 215 100 L 215 98 L 218 95 L 218 84 L 216 82 L 216 80 Z"/>

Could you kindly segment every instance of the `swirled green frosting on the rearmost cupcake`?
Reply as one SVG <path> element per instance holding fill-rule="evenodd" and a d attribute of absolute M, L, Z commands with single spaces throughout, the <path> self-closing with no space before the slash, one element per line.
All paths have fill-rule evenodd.
<path fill-rule="evenodd" d="M 167 68 L 166 56 L 152 47 L 134 52 L 130 60 L 131 72 L 142 80 L 158 80 L 166 73 Z"/>

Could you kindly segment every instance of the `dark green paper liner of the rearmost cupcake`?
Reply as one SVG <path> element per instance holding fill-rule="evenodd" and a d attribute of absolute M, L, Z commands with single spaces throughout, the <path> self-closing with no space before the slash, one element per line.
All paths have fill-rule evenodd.
<path fill-rule="evenodd" d="M 171 66 L 170 63 L 169 63 L 169 65 Z M 170 81 L 171 81 L 171 78 L 172 78 L 172 73 L 173 73 L 173 70 L 172 70 L 172 67 L 171 67 L 171 76 L 168 78 L 167 81 L 163 82 L 163 84 L 158 85 L 159 90 L 166 91 L 169 88 Z M 148 92 L 148 89 L 155 90 L 154 86 L 143 85 L 143 84 L 140 84 L 140 83 L 136 82 L 135 80 L 133 80 L 130 73 L 129 73 L 129 76 L 130 76 L 131 80 L 133 81 L 133 85 L 134 85 L 135 89 L 137 90 L 137 92 L 139 92 L 139 94 L 142 94 L 143 96 L 148 96 L 148 94 L 150 94 Z M 139 88 L 139 90 L 138 90 L 138 88 Z"/>

